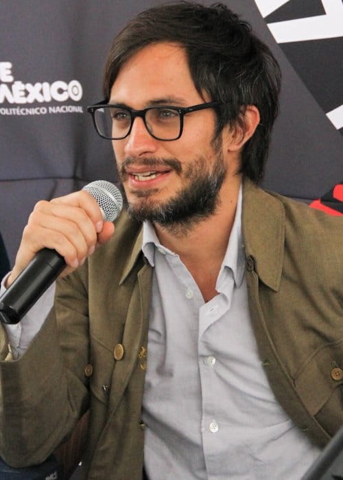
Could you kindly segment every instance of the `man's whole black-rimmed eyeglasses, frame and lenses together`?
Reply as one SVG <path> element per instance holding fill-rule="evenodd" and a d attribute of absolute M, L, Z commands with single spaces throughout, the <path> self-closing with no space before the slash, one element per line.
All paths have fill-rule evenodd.
<path fill-rule="evenodd" d="M 106 104 L 106 101 L 101 101 L 99 104 L 88 106 L 87 111 L 93 117 L 95 130 L 104 139 L 125 139 L 131 132 L 134 119 L 140 117 L 154 139 L 171 141 L 180 139 L 184 115 L 205 108 L 213 108 L 221 103 L 220 101 L 210 101 L 206 104 L 185 108 L 155 106 L 143 108 L 143 110 L 133 110 L 127 106 Z"/>

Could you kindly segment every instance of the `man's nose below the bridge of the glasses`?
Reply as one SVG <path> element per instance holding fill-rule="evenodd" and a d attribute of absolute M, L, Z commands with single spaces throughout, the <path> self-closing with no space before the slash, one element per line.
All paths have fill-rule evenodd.
<path fill-rule="evenodd" d="M 154 139 L 144 125 L 143 119 L 137 117 L 132 123 L 124 151 L 126 156 L 144 156 L 156 152 L 157 140 Z"/>

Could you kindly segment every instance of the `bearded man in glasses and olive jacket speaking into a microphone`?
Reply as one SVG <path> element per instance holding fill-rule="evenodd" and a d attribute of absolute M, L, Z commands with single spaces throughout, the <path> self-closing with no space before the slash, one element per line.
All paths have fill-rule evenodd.
<path fill-rule="evenodd" d="M 29 217 L 6 286 L 43 247 L 68 267 L 47 319 L 49 294 L 8 329 L 17 361 L 1 337 L 8 463 L 90 409 L 88 479 L 299 479 L 338 429 L 342 219 L 256 185 L 279 85 L 223 5 L 161 5 L 115 38 L 90 110 L 129 216 L 113 235 L 78 192 Z"/>

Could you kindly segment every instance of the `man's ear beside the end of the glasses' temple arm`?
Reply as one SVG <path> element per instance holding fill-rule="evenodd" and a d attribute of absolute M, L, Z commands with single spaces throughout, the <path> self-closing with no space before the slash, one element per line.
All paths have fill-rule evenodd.
<path fill-rule="evenodd" d="M 259 125 L 259 109 L 255 105 L 247 105 L 245 111 L 241 113 L 241 118 L 237 121 L 235 128 L 230 130 L 230 139 L 228 141 L 228 150 L 237 152 L 244 146 Z"/>

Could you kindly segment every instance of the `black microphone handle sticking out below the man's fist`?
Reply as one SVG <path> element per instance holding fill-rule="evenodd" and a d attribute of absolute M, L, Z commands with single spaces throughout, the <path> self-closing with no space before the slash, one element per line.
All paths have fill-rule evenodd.
<path fill-rule="evenodd" d="M 0 321 L 17 324 L 65 268 L 64 258 L 50 248 L 37 252 L 0 297 Z"/>

